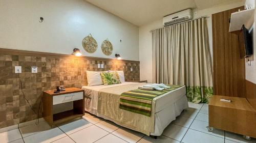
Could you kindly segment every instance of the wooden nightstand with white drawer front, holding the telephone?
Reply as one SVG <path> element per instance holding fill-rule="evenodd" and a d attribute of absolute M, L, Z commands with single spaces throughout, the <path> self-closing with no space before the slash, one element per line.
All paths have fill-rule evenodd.
<path fill-rule="evenodd" d="M 42 96 L 43 117 L 50 126 L 73 120 L 84 115 L 84 91 L 78 88 L 67 88 L 66 91 L 53 93 L 55 90 L 44 91 Z M 73 109 L 54 113 L 56 106 L 73 102 Z"/>

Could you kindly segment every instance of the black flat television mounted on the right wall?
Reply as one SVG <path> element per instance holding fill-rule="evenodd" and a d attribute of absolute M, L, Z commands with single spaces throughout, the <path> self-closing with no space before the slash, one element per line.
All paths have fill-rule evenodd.
<path fill-rule="evenodd" d="M 252 33 L 243 25 L 241 31 L 238 35 L 239 39 L 239 51 L 240 51 L 240 58 L 246 58 L 253 54 L 253 43 L 252 43 Z"/>

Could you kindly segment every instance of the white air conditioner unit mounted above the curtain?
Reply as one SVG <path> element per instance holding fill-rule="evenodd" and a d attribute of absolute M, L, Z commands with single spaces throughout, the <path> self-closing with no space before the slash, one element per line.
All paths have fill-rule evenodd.
<path fill-rule="evenodd" d="M 180 11 L 174 14 L 167 15 L 163 17 L 163 25 L 169 26 L 172 24 L 184 22 L 193 19 L 193 13 L 191 9 Z"/>

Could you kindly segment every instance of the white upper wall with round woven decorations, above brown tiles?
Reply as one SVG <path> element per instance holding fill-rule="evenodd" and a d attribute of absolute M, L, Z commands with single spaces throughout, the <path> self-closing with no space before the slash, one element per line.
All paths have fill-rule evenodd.
<path fill-rule="evenodd" d="M 40 17 L 44 22 L 39 23 Z M 89 34 L 98 49 L 87 53 L 82 39 Z M 108 38 L 114 47 L 111 56 L 101 51 Z M 122 42 L 120 42 L 120 39 Z M 139 60 L 138 26 L 84 0 L 1 0 L 0 48 L 70 54 L 78 47 L 83 55 Z"/>

